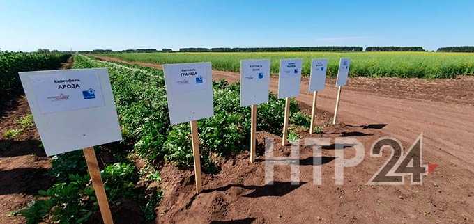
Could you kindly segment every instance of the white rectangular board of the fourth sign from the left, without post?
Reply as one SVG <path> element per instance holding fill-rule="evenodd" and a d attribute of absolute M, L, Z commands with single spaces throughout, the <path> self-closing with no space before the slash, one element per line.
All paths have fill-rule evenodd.
<path fill-rule="evenodd" d="M 301 59 L 280 60 L 278 98 L 296 97 L 300 94 Z"/>

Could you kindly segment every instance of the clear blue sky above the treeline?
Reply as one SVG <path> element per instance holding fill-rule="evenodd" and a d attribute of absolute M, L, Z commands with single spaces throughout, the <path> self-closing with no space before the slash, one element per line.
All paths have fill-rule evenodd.
<path fill-rule="evenodd" d="M 0 49 L 474 45 L 474 1 L 0 1 Z"/>

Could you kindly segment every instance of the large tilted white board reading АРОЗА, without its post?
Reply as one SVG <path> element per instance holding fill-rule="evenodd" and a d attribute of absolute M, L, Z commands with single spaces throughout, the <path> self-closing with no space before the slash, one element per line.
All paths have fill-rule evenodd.
<path fill-rule="evenodd" d="M 107 69 L 19 74 L 48 156 L 121 141 Z"/>

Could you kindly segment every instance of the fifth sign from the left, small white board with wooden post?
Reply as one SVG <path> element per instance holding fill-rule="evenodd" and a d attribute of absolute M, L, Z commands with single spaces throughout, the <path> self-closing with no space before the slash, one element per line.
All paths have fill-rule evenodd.
<path fill-rule="evenodd" d="M 309 134 L 313 134 L 314 122 L 316 120 L 316 99 L 318 91 L 323 90 L 326 84 L 326 71 L 328 70 L 327 59 L 312 59 L 311 75 L 309 76 L 308 92 L 313 93 L 313 104 L 311 110 L 311 125 L 309 125 Z"/>

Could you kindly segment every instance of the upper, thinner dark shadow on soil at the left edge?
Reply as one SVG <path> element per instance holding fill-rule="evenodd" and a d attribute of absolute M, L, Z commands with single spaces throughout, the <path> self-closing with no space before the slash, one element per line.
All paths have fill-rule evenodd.
<path fill-rule="evenodd" d="M 0 157 L 18 157 L 29 154 L 46 157 L 46 152 L 41 147 L 41 141 L 35 139 L 24 141 L 0 140 Z"/>

